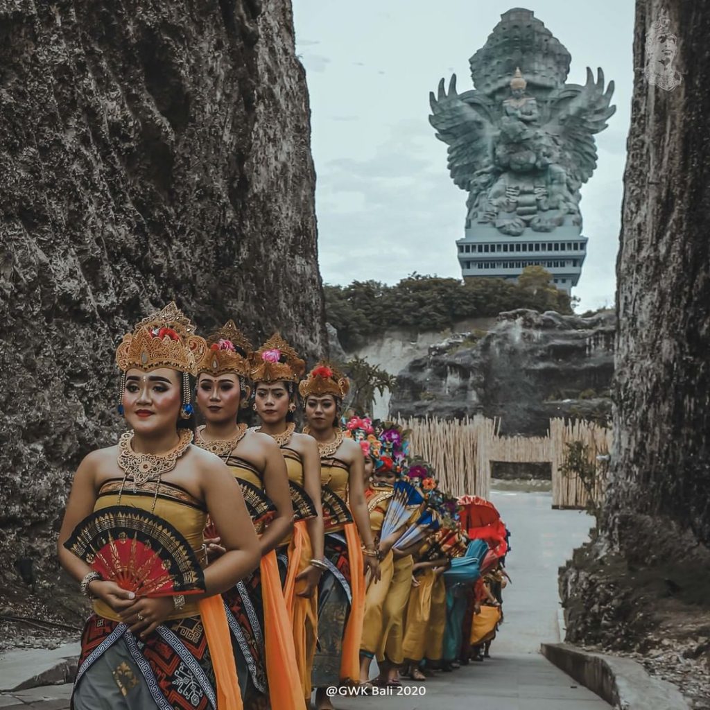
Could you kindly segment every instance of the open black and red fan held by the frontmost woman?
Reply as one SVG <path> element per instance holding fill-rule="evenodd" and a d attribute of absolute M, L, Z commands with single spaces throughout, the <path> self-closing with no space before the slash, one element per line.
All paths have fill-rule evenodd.
<path fill-rule="evenodd" d="M 199 594 L 195 551 L 167 520 L 130 506 L 102 508 L 77 525 L 64 546 L 107 581 L 137 597 Z"/>

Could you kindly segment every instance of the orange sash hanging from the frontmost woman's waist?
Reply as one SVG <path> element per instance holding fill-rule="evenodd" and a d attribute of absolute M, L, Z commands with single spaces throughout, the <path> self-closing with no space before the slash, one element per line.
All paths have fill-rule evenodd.
<path fill-rule="evenodd" d="M 217 680 L 217 710 L 242 710 L 241 691 L 236 678 L 231 636 L 226 623 L 224 601 L 220 594 L 208 596 L 197 603 L 204 626 L 204 635 L 212 658 Z"/>

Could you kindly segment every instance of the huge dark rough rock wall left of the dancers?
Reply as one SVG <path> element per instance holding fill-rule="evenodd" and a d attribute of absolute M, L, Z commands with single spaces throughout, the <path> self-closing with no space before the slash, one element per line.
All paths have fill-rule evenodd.
<path fill-rule="evenodd" d="M 123 428 L 129 324 L 175 298 L 202 332 L 327 338 L 289 2 L 0 0 L 0 37 L 5 596 L 18 558 L 56 576 L 72 471 Z"/>

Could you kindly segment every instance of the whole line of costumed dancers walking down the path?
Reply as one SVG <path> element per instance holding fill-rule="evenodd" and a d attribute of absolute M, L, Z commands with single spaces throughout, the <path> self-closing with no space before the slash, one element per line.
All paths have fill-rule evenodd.
<path fill-rule="evenodd" d="M 174 303 L 116 364 L 129 430 L 80 464 L 58 540 L 93 606 L 73 708 L 327 710 L 488 655 L 498 511 L 442 491 L 396 423 L 346 418 L 335 366 L 232 320 L 201 337 Z"/>

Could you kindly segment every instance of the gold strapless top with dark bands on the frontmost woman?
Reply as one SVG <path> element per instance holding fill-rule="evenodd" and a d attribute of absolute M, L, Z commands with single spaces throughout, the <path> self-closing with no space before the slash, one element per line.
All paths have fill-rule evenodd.
<path fill-rule="evenodd" d="M 168 520 L 170 525 L 178 530 L 187 542 L 190 543 L 192 550 L 197 553 L 197 559 L 200 560 L 203 567 L 207 566 L 204 559 L 204 537 L 202 531 L 207 521 L 207 510 L 202 501 L 192 496 L 192 493 L 185 491 L 185 488 L 180 488 L 175 484 L 168 484 L 165 481 L 160 482 L 158 489 L 158 497 L 155 498 L 155 487 L 157 481 L 148 481 L 140 490 L 133 493 L 133 484 L 124 486 L 124 491 L 121 494 L 121 506 L 131 506 L 140 508 L 141 510 L 151 510 L 153 508 L 153 500 L 155 500 L 155 509 L 153 513 L 159 518 Z M 94 504 L 94 512 L 108 508 L 109 506 L 117 506 L 119 504 L 119 490 L 121 489 L 121 479 L 110 479 L 99 488 L 99 496 Z M 190 594 L 185 596 L 185 606 L 170 614 L 168 619 L 180 619 L 187 616 L 197 616 L 197 601 L 191 601 Z M 120 621 L 116 613 L 100 599 L 94 601 L 94 611 L 104 618 L 112 621 Z"/>

